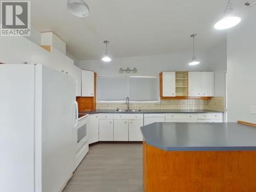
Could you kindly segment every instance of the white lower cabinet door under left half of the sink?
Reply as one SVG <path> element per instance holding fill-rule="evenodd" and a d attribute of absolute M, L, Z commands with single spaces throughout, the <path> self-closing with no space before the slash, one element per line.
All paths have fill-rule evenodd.
<path fill-rule="evenodd" d="M 114 141 L 128 141 L 129 120 L 114 120 Z"/>

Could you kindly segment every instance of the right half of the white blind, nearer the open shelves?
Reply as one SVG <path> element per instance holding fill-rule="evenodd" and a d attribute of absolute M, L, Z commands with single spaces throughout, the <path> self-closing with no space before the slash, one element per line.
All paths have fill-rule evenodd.
<path fill-rule="evenodd" d="M 158 78 L 129 77 L 129 98 L 131 101 L 158 101 Z"/>

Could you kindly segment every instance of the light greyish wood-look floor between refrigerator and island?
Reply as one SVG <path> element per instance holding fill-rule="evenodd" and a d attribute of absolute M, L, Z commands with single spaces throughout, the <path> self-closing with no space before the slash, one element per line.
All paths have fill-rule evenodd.
<path fill-rule="evenodd" d="M 142 144 L 90 146 L 63 192 L 143 192 Z"/>

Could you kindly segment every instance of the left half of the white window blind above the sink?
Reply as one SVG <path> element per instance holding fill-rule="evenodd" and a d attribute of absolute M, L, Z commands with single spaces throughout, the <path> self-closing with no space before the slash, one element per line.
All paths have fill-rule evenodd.
<path fill-rule="evenodd" d="M 123 101 L 128 95 L 128 77 L 99 76 L 98 101 Z"/>

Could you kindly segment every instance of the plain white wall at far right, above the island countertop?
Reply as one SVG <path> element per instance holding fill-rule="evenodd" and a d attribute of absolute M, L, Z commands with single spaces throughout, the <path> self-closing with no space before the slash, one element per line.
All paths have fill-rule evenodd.
<path fill-rule="evenodd" d="M 256 123 L 256 6 L 247 8 L 241 24 L 227 33 L 228 121 Z"/>

